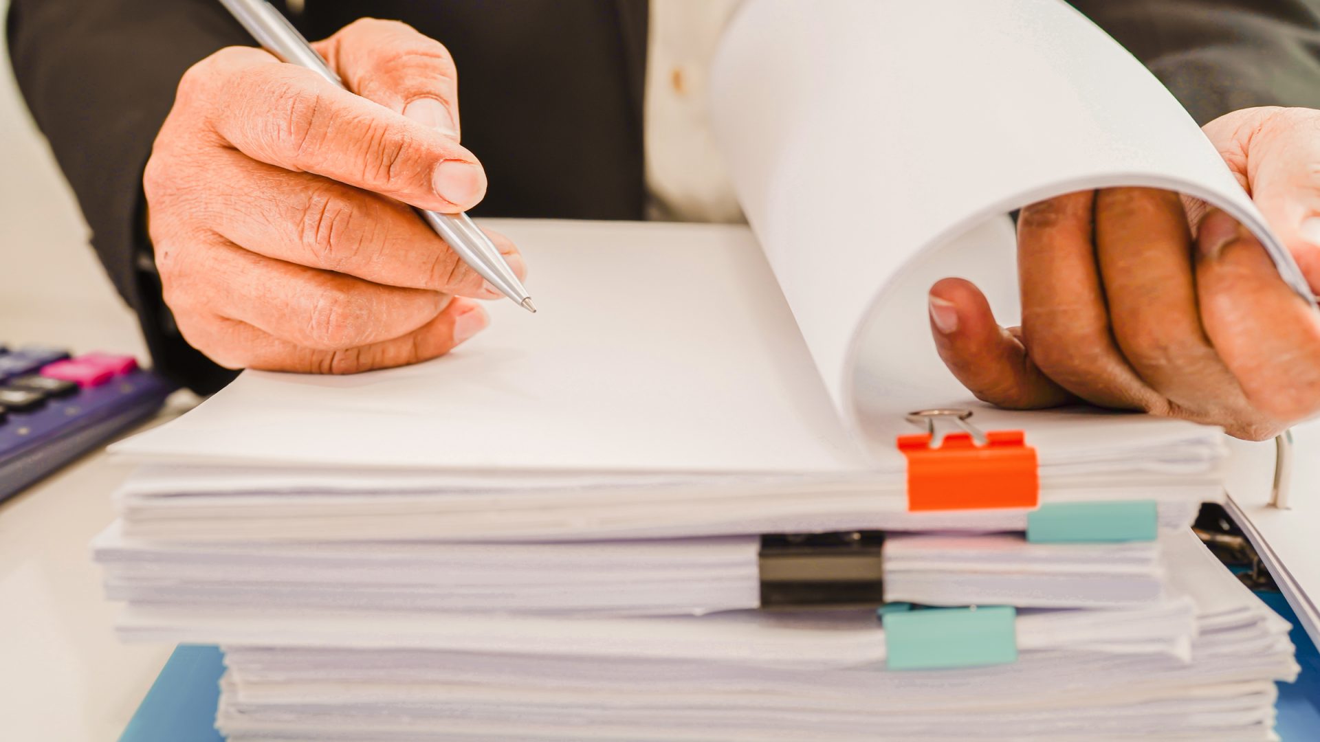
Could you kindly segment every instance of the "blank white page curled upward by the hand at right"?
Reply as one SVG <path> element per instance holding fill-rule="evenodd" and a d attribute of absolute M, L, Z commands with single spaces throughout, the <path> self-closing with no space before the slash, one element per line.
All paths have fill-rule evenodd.
<path fill-rule="evenodd" d="M 1005 215 L 1035 201 L 1107 186 L 1205 199 L 1309 296 L 1177 100 L 1060 0 L 750 0 L 711 95 L 747 219 L 863 437 L 936 387 L 958 393 L 927 337 L 929 279 L 985 275 L 1011 314 Z"/>

